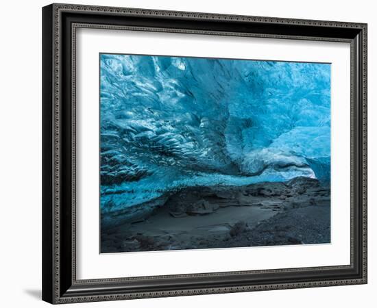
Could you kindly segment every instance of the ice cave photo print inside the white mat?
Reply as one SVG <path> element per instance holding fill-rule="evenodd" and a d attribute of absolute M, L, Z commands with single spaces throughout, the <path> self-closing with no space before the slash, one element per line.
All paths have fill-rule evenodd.
<path fill-rule="evenodd" d="M 100 53 L 100 253 L 330 243 L 330 73 Z"/>

